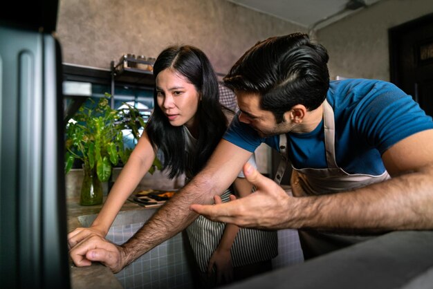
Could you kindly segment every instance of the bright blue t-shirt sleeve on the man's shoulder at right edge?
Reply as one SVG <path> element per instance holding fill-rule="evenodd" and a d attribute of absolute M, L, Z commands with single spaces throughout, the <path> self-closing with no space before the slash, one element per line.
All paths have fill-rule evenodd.
<path fill-rule="evenodd" d="M 359 106 L 355 126 L 380 154 L 408 136 L 433 129 L 426 115 L 410 95 L 394 84 L 378 82 Z"/>

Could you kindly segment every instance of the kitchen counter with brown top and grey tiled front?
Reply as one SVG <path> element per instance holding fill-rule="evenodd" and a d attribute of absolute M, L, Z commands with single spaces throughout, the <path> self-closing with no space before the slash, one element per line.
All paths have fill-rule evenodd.
<path fill-rule="evenodd" d="M 285 188 L 286 189 L 286 188 Z M 102 205 L 96 206 L 81 206 L 79 205 L 78 198 L 68 198 L 68 232 L 72 232 L 77 227 L 88 227 L 96 214 L 100 212 Z M 116 216 L 116 220 L 111 227 L 111 233 L 107 238 L 116 243 L 122 243 L 129 239 L 131 236 L 131 229 L 136 228 L 136 225 L 147 221 L 158 208 L 144 208 L 136 203 L 127 201 L 121 209 L 121 212 Z M 83 217 L 84 216 L 84 217 Z M 126 225 L 134 224 L 134 225 Z M 126 225 L 126 226 L 125 226 Z M 132 230 L 135 232 L 136 229 Z M 126 234 L 125 234 L 126 232 Z M 181 235 L 181 236 L 179 236 Z M 282 244 L 284 242 L 291 244 L 295 248 L 296 244 L 293 241 L 299 242 L 292 232 L 282 234 Z M 186 243 L 188 243 L 186 241 Z M 185 234 L 179 233 L 172 239 L 167 240 L 165 243 L 158 245 L 157 248 L 147 252 L 146 254 L 134 261 L 128 268 L 122 270 L 119 274 L 113 274 L 108 268 L 100 263 L 93 263 L 91 266 L 78 268 L 73 265 L 70 260 L 70 274 L 71 274 L 71 288 L 125 288 L 132 284 L 136 284 L 136 280 L 142 280 L 143 286 L 149 288 L 171 288 L 172 285 L 177 288 L 192 288 L 192 270 L 190 249 L 185 245 Z M 162 246 L 162 247 L 161 247 Z M 152 252 L 153 251 L 153 252 Z M 300 255 L 300 259 L 298 258 Z M 158 259 L 157 264 L 154 261 L 147 261 Z M 302 259 L 302 252 L 300 248 L 294 252 L 282 252 L 281 258 L 284 260 L 277 260 L 277 265 L 282 266 L 286 263 L 293 263 L 298 259 Z M 150 264 L 149 264 L 150 262 Z M 166 265 L 164 265 L 166 264 Z M 151 270 L 149 270 L 151 268 Z M 167 277 L 165 277 L 167 272 Z M 174 274 L 173 274 L 174 273 Z M 173 277 L 175 281 L 173 282 Z M 149 281 L 149 279 L 151 281 Z M 140 281 L 138 281 L 140 282 Z M 160 283 L 158 283 L 160 282 Z"/>

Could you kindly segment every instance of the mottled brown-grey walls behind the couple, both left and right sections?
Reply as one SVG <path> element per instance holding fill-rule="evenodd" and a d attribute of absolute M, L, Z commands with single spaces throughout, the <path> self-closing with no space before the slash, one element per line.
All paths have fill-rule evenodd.
<path fill-rule="evenodd" d="M 317 31 L 331 78 L 389 80 L 388 29 L 433 12 L 432 0 L 381 0 Z M 225 0 L 59 0 L 64 62 L 109 68 L 123 53 L 155 57 L 169 44 L 193 44 L 219 73 L 258 40 L 306 28 Z"/>

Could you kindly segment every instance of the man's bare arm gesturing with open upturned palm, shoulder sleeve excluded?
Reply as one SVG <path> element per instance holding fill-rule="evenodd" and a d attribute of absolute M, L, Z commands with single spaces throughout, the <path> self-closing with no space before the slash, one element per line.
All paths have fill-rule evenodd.
<path fill-rule="evenodd" d="M 293 198 L 248 164 L 257 191 L 221 205 L 192 205 L 213 221 L 269 229 L 338 232 L 433 229 L 433 130 L 401 140 L 383 154 L 393 178 L 351 192 Z"/>

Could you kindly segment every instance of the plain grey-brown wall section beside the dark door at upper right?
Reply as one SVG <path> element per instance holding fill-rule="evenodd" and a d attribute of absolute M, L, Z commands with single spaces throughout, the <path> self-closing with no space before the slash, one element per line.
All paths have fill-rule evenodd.
<path fill-rule="evenodd" d="M 329 52 L 331 78 L 389 81 L 388 29 L 429 13 L 432 0 L 382 0 L 317 31 Z"/>

